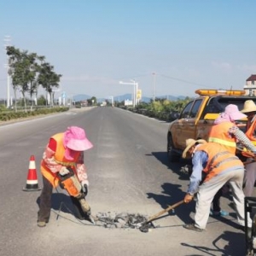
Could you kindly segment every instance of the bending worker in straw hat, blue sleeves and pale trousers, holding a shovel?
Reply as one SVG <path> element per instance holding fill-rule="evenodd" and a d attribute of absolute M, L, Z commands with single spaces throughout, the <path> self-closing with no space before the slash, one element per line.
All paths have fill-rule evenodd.
<path fill-rule="evenodd" d="M 189 189 L 184 197 L 184 202 L 192 201 L 197 193 L 195 223 L 185 224 L 183 227 L 199 232 L 206 229 L 212 199 L 225 183 L 230 184 L 238 223 L 245 226 L 244 194 L 242 192 L 244 166 L 241 160 L 218 143 L 202 143 L 201 141 L 188 139 L 187 147 L 183 151 L 183 158 L 186 158 L 187 154 L 192 156 L 193 165 Z M 203 180 L 202 172 L 205 174 Z M 252 224 L 247 226 L 252 226 Z"/>

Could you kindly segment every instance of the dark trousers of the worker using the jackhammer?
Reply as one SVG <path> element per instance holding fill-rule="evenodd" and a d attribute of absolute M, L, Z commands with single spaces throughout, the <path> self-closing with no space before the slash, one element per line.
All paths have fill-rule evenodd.
<path fill-rule="evenodd" d="M 51 208 L 51 195 L 53 191 L 53 186 L 49 183 L 48 179 L 43 176 L 44 188 L 40 195 L 39 201 L 39 211 L 38 211 L 38 221 L 49 222 L 50 208 Z M 73 196 L 70 196 L 71 201 L 73 202 L 73 207 L 75 209 L 75 217 L 79 219 L 84 219 L 87 215 L 82 211 L 79 200 Z"/>

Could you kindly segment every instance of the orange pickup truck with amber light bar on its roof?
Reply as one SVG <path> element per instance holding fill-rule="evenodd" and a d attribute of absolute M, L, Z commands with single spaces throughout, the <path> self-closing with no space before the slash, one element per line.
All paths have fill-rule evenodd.
<path fill-rule="evenodd" d="M 167 155 L 170 162 L 176 162 L 185 148 L 188 138 L 208 139 L 214 119 L 229 104 L 235 104 L 240 110 L 247 100 L 256 102 L 256 97 L 244 96 L 244 90 L 195 90 L 199 96 L 189 102 L 178 119 L 172 121 L 167 132 Z M 241 130 L 246 119 L 238 122 Z"/>

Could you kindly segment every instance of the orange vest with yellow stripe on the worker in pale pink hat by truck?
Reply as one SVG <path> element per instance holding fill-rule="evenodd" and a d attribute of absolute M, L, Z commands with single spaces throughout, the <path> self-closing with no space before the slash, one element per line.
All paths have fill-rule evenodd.
<path fill-rule="evenodd" d="M 232 154 L 236 154 L 236 137 L 229 136 L 230 128 L 234 126 L 227 121 L 218 125 L 213 125 L 209 132 L 209 143 L 219 143 Z"/>

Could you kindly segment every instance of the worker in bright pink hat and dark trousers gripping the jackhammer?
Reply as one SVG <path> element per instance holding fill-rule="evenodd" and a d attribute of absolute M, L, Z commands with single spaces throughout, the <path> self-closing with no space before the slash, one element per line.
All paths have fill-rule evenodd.
<path fill-rule="evenodd" d="M 68 127 L 67 131 L 49 138 L 41 161 L 44 188 L 39 202 L 39 227 L 44 227 L 49 222 L 52 190 L 59 185 L 60 177 L 65 177 L 70 172 L 69 167 L 77 175 L 84 195 L 87 195 L 89 182 L 84 166 L 84 150 L 92 147 L 93 145 L 87 139 L 84 129 L 77 126 Z M 71 200 L 77 217 L 80 219 L 87 218 L 88 216 L 82 210 L 79 200 L 73 196 L 71 196 Z M 90 214 L 89 206 L 88 214 Z"/>

